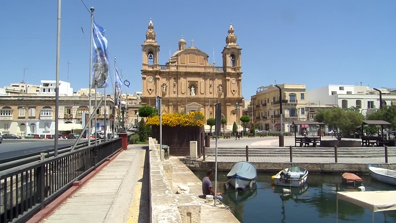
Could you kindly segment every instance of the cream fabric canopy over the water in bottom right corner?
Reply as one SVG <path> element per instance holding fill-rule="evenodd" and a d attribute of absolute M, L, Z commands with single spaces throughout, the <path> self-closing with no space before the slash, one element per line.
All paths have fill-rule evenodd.
<path fill-rule="evenodd" d="M 373 212 L 396 210 L 396 190 L 337 192 L 337 199 L 346 200 Z"/>

